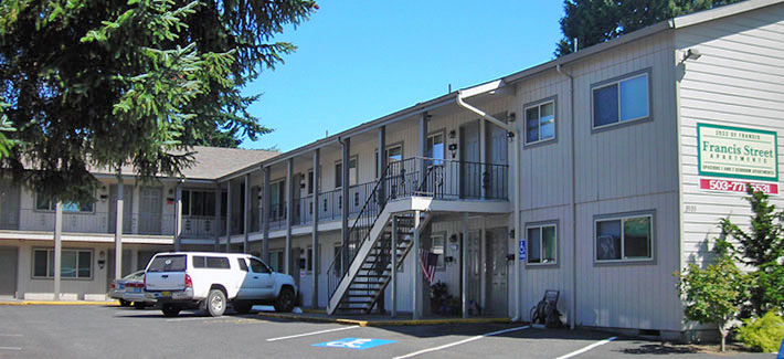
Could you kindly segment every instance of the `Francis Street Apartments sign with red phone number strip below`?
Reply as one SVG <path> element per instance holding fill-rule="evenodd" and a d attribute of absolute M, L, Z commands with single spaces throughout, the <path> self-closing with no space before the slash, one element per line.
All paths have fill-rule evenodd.
<path fill-rule="evenodd" d="M 761 129 L 697 124 L 700 189 L 745 192 L 746 184 L 778 194 L 776 133 Z"/>

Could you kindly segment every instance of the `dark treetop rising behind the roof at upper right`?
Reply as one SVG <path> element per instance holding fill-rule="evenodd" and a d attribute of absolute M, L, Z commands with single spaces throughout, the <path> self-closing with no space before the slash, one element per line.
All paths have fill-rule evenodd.
<path fill-rule="evenodd" d="M 564 0 L 561 18 L 563 39 L 555 56 L 615 39 L 657 22 L 742 0 Z"/>

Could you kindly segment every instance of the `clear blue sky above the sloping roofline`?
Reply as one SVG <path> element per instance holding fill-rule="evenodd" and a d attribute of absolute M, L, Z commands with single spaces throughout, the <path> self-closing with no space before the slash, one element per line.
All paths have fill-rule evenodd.
<path fill-rule="evenodd" d="M 296 53 L 247 94 L 274 133 L 243 148 L 288 151 L 453 89 L 553 59 L 561 0 L 322 0 L 277 41 Z"/>

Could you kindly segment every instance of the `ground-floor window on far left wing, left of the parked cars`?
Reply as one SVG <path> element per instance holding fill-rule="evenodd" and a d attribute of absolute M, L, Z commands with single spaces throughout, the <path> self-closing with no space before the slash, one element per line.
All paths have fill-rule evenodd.
<path fill-rule="evenodd" d="M 62 250 L 60 275 L 63 278 L 92 278 L 93 251 Z M 54 250 L 33 250 L 33 277 L 54 277 Z"/>

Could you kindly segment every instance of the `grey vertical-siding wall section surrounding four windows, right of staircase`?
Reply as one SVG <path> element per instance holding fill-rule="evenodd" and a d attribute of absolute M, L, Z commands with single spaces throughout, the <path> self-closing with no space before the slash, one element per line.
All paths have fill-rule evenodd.
<path fill-rule="evenodd" d="M 527 223 L 557 221 L 559 241 L 558 265 L 522 268 L 523 318 L 528 319 L 528 310 L 541 300 L 545 289 L 560 291 L 559 310 L 572 316 L 572 271 L 576 264 L 578 325 L 679 330 L 679 298 L 671 275 L 679 266 L 672 52 L 671 34 L 663 33 L 564 66 L 574 76 L 574 116 L 568 77 L 552 71 L 518 85 L 515 112 L 520 114 L 520 128 L 525 126 L 526 104 L 557 96 L 557 139 L 523 148 L 520 161 L 523 231 Z M 642 70 L 650 71 L 653 120 L 592 130 L 592 85 Z M 596 265 L 594 217 L 638 211 L 655 212 L 655 260 Z"/>

